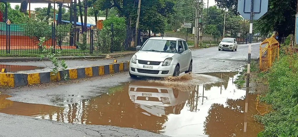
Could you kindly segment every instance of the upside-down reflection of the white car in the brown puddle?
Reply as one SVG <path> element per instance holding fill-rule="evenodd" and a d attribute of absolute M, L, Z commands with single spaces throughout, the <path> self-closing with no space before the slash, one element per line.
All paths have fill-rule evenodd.
<path fill-rule="evenodd" d="M 128 86 L 128 94 L 136 106 L 148 112 L 143 112 L 143 114 L 162 116 L 180 114 L 189 99 L 190 91 L 180 91 L 147 82 L 132 82 Z"/>

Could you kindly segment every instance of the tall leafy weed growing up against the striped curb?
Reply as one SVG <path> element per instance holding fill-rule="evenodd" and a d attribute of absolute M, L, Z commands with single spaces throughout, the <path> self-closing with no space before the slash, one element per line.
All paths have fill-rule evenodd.
<path fill-rule="evenodd" d="M 39 43 L 38 43 L 38 46 L 41 46 L 42 47 L 42 55 L 41 55 L 41 60 L 43 60 L 44 59 L 44 57 L 47 57 L 47 58 L 49 58 L 49 60 L 50 61 L 52 61 L 52 64 L 54 65 L 54 67 L 53 68 L 51 68 L 51 67 L 49 67 L 49 68 L 51 68 L 52 70 L 51 70 L 51 72 L 52 72 L 52 75 L 55 75 L 56 76 L 56 80 L 57 81 L 59 81 L 59 80 L 61 80 L 62 78 L 64 79 L 64 80 L 69 80 L 69 76 L 68 76 L 68 74 L 66 74 L 66 69 L 67 69 L 67 64 L 66 64 L 66 61 L 64 61 L 64 60 L 61 60 L 61 59 L 59 59 L 58 57 L 60 57 L 61 56 L 61 50 L 60 51 L 56 51 L 57 52 L 57 54 L 55 54 L 55 53 L 53 53 L 52 51 L 53 51 L 53 46 L 51 46 L 50 48 L 49 48 L 49 50 L 48 49 L 46 49 L 46 45 L 44 45 L 44 42 L 46 41 L 46 38 L 45 37 L 41 37 L 40 39 L 39 39 Z M 63 75 L 62 76 L 60 76 L 60 79 L 59 79 L 59 77 L 58 77 L 58 73 L 59 73 L 59 69 L 62 69 L 62 71 L 63 71 Z"/>

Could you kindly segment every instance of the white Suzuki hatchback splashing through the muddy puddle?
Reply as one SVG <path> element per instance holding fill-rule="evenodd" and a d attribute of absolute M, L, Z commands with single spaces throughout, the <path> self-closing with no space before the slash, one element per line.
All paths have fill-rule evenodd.
<path fill-rule="evenodd" d="M 131 77 L 179 76 L 191 72 L 193 58 L 187 42 L 180 38 L 152 37 L 137 46 L 129 63 Z"/>

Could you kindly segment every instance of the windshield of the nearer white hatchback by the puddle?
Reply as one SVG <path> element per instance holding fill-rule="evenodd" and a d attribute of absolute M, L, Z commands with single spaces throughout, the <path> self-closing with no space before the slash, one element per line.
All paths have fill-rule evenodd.
<path fill-rule="evenodd" d="M 149 39 L 142 46 L 141 51 L 176 53 L 176 45 L 176 41 Z"/>

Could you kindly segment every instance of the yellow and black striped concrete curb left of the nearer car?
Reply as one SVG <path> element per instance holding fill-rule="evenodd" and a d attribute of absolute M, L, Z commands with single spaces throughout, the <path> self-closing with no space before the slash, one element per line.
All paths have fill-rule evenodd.
<path fill-rule="evenodd" d="M 42 84 L 52 81 L 59 81 L 63 74 L 67 74 L 70 79 L 96 77 L 101 75 L 113 74 L 129 70 L 129 62 L 113 63 L 103 66 L 92 66 L 85 68 L 73 68 L 60 71 L 56 75 L 52 72 L 38 73 L 0 73 L 0 87 L 19 87 L 32 84 Z"/>

